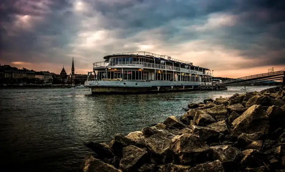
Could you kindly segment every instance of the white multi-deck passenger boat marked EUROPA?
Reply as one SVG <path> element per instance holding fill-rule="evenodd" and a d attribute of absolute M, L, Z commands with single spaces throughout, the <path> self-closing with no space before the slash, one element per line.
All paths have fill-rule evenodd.
<path fill-rule="evenodd" d="M 124 52 L 93 64 L 85 87 L 92 94 L 135 94 L 216 89 L 211 71 L 192 62 L 150 52 Z M 94 73 L 94 77 L 89 77 Z"/>

